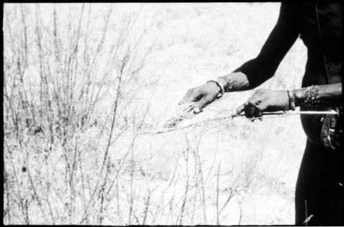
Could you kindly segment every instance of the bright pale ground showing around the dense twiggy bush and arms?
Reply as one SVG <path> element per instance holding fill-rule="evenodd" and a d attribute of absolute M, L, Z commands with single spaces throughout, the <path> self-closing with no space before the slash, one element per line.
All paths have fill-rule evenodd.
<path fill-rule="evenodd" d="M 31 83 L 34 91 L 39 89 L 39 85 L 34 85 L 35 82 L 40 81 L 37 73 L 39 57 L 35 49 L 37 36 L 34 33 L 36 6 L 23 6 L 29 15 L 25 21 L 28 23 L 29 51 L 32 51 L 25 71 L 25 81 Z M 305 135 L 299 116 L 255 122 L 228 119 L 184 131 L 144 134 L 146 131 L 157 130 L 169 119 L 189 88 L 229 73 L 246 60 L 257 56 L 277 21 L 280 3 L 120 3 L 113 6 L 103 52 L 97 57 L 98 68 L 93 72 L 94 83 L 99 79 L 97 86 L 102 86 L 104 95 L 88 121 L 96 119 L 98 125 L 90 125 L 82 132 L 69 134 L 69 142 L 77 145 L 74 146 L 75 150 L 67 150 L 69 159 L 65 158 L 66 150 L 59 142 L 53 145 L 48 154 L 41 152 L 50 138 L 50 134 L 45 133 L 47 130 L 34 135 L 25 133 L 25 143 L 19 146 L 18 139 L 10 134 L 10 118 L 4 118 L 4 130 L 8 132 L 4 148 L 8 180 L 4 183 L 4 189 L 8 191 L 4 193 L 3 206 L 6 213 L 3 222 L 109 225 L 294 224 L 294 189 L 305 147 Z M 83 37 L 89 37 L 84 45 L 96 49 L 94 43 L 98 43 L 101 37 L 104 15 L 109 10 L 109 4 L 86 4 L 84 7 L 81 31 Z M 53 34 L 53 8 L 52 4 L 40 5 L 43 18 L 41 23 L 46 26 L 42 34 L 44 31 Z M 10 63 L 10 59 L 16 56 L 8 32 L 12 31 L 12 36 L 17 34 L 17 38 L 12 37 L 12 40 L 17 40 L 17 44 L 22 39 L 20 37 L 23 37 L 19 26 L 22 20 L 20 9 L 19 4 L 6 4 L 4 8 L 4 66 L 8 64 L 4 74 L 6 84 L 12 82 L 11 73 L 15 71 L 12 69 L 15 64 Z M 68 44 L 75 35 L 65 31 L 67 21 L 72 21 L 72 26 L 77 27 L 80 9 L 81 4 L 57 5 L 58 26 L 61 27 L 61 37 L 65 37 L 62 43 Z M 90 21 L 87 21 L 87 15 Z M 123 122 L 128 121 L 129 130 L 109 146 L 111 165 L 105 178 L 105 188 L 109 189 L 109 194 L 102 202 L 103 216 L 100 221 L 101 196 L 92 201 L 90 198 L 109 136 L 107 131 L 100 135 L 100 122 L 109 130 L 111 121 L 107 117 L 111 117 L 111 111 L 114 110 L 111 106 L 117 94 L 115 72 L 118 72 L 116 69 L 107 69 L 107 51 L 118 40 L 118 31 L 125 26 L 122 21 L 126 15 L 136 20 L 131 36 L 125 42 L 138 40 L 144 28 L 147 28 L 136 53 L 138 60 L 133 60 L 133 67 L 129 69 L 140 64 L 138 62 L 145 51 L 149 50 L 149 55 L 134 80 L 129 82 L 125 91 L 127 93 L 122 93 L 124 99 L 114 128 L 119 135 Z M 86 32 L 87 25 L 91 25 L 92 32 Z M 53 46 L 52 40 L 49 35 L 42 37 L 47 56 L 52 54 L 49 52 Z M 84 47 L 80 45 L 78 48 Z M 126 50 L 122 46 L 117 49 L 119 55 L 120 51 Z M 47 59 L 54 69 L 54 58 Z M 305 46 L 301 40 L 297 40 L 281 62 L 275 77 L 260 88 L 300 87 L 305 60 Z M 81 69 L 85 66 L 80 63 L 79 67 Z M 101 75 L 105 74 L 105 69 L 109 75 L 103 78 Z M 76 84 L 82 84 L 83 77 L 85 75 L 80 71 Z M 228 93 L 189 122 L 230 114 L 252 93 Z M 34 104 L 39 103 L 36 94 L 32 93 L 29 98 Z M 9 107 L 6 106 L 6 98 L 4 100 L 6 113 Z M 73 105 L 77 106 L 78 103 Z M 145 111 L 147 106 L 148 112 Z M 142 131 L 131 143 L 135 132 L 131 128 L 137 126 L 137 119 L 142 116 L 145 117 Z M 44 126 L 44 122 L 42 124 Z M 23 128 L 21 131 L 25 130 Z M 76 153 L 80 154 L 80 159 L 75 158 Z M 72 174 L 66 170 L 66 160 L 75 164 Z M 23 166 L 30 169 L 31 176 L 28 176 L 28 171 L 22 171 Z M 116 175 L 119 166 L 121 168 Z M 73 184 L 71 176 L 74 176 Z M 110 187 L 111 182 L 114 182 L 114 187 Z M 23 205 L 19 200 L 27 204 Z"/>

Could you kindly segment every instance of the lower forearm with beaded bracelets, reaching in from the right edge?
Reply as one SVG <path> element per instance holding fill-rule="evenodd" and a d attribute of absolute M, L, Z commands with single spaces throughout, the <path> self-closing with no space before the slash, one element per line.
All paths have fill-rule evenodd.
<path fill-rule="evenodd" d="M 292 90 L 295 98 L 295 106 L 340 106 L 342 97 L 342 84 L 326 84 L 314 86 L 314 88 L 300 88 Z M 314 100 L 312 103 L 312 100 Z"/>

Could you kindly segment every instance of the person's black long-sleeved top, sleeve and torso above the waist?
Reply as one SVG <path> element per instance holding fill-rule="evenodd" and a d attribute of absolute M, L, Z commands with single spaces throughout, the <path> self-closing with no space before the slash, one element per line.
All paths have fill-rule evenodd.
<path fill-rule="evenodd" d="M 328 84 L 325 73 L 325 52 L 327 69 L 332 84 L 341 82 L 341 3 L 318 4 L 319 26 L 316 21 L 315 5 L 282 3 L 279 19 L 257 58 L 249 60 L 235 71 L 245 73 L 250 86 L 259 86 L 275 74 L 281 60 L 300 36 L 308 49 L 302 86 Z M 325 110 L 313 108 L 313 110 Z M 308 139 L 319 143 L 321 116 L 302 116 L 301 121 Z"/>

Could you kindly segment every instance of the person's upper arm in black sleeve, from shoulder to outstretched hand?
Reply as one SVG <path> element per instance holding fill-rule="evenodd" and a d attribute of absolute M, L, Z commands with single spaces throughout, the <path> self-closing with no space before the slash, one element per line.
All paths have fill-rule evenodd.
<path fill-rule="evenodd" d="M 257 58 L 249 60 L 229 74 L 233 83 L 231 91 L 245 91 L 255 88 L 275 74 L 279 63 L 284 58 L 294 41 L 299 36 L 299 30 L 295 24 L 292 5 L 282 4 L 279 19 L 272 30 L 268 40 L 261 48 Z M 226 86 L 226 80 L 221 77 L 218 82 Z M 189 89 L 179 104 L 197 101 L 196 108 L 202 110 L 217 98 L 219 87 L 213 82 Z"/>

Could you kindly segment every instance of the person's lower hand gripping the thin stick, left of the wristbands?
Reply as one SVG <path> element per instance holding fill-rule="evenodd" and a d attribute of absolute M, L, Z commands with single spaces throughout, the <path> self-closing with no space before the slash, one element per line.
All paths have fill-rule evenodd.
<path fill-rule="evenodd" d="M 237 108 L 237 115 L 245 111 L 248 118 L 261 117 L 263 112 L 279 110 L 289 110 L 288 92 L 259 89 Z"/>

